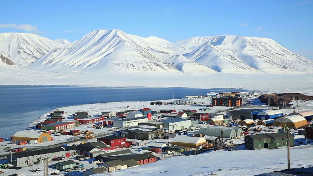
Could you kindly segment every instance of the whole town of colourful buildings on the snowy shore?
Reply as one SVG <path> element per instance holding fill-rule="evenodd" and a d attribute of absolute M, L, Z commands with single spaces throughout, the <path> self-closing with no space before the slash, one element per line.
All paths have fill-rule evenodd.
<path fill-rule="evenodd" d="M 308 147 L 312 106 L 299 93 L 210 92 L 65 107 L 0 138 L 0 173 L 88 176 L 212 150 Z"/>

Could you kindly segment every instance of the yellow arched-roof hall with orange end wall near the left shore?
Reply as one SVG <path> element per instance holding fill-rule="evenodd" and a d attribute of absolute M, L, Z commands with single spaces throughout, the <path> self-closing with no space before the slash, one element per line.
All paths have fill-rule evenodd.
<path fill-rule="evenodd" d="M 30 141 L 38 140 L 38 143 L 51 141 L 51 137 L 48 133 L 40 132 L 16 132 L 13 137 L 13 141 Z"/>

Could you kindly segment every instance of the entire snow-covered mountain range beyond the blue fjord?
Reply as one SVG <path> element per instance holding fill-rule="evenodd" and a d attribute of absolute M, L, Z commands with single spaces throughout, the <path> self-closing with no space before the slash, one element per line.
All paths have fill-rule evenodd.
<path fill-rule="evenodd" d="M 57 73 L 212 74 L 312 73 L 313 61 L 272 39 L 233 35 L 171 43 L 113 30 L 94 30 L 70 43 L 36 34 L 0 34 L 0 54 L 30 70 Z M 29 64 L 30 63 L 30 64 Z M 2 64 L 3 65 L 3 64 Z M 8 65 L 8 64 L 6 64 Z M 0 65 L 1 66 L 1 65 Z"/>

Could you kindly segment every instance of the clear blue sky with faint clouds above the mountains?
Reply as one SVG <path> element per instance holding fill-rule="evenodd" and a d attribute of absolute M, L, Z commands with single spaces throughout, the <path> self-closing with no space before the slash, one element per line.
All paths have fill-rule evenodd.
<path fill-rule="evenodd" d="M 1 6 L 0 33 L 35 33 L 70 42 L 95 29 L 121 29 L 170 42 L 232 34 L 271 38 L 313 59 L 313 0 L 34 0 L 2 1 Z"/>

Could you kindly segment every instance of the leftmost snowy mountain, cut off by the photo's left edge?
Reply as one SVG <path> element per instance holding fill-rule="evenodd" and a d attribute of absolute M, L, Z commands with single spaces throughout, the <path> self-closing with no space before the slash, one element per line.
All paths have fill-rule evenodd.
<path fill-rule="evenodd" d="M 61 46 L 61 44 L 36 34 L 0 34 L 0 54 L 18 65 L 33 62 L 39 57 Z"/>

